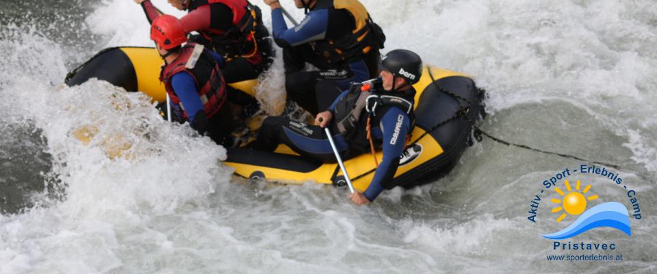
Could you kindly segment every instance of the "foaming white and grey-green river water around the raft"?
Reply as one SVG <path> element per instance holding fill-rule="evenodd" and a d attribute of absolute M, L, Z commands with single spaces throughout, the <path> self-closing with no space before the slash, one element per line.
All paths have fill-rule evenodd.
<path fill-rule="evenodd" d="M 291 2 L 283 5 L 301 18 Z M 487 88 L 482 129 L 616 164 L 606 170 L 623 184 L 582 174 L 591 162 L 487 138 L 447 177 L 387 191 L 369 206 L 311 182 L 245 182 L 220 163 L 222 147 L 162 121 L 145 97 L 95 80 L 62 85 L 100 49 L 152 46 L 133 1 L 2 1 L 0 273 L 657 272 L 654 1 L 363 3 L 387 34 L 384 52 L 411 49 Z M 255 4 L 270 26 L 269 8 Z M 259 87 L 268 110 L 280 108 L 271 101 L 281 101 L 282 67 L 279 58 Z M 73 138 L 83 125 L 101 137 Z M 126 158 L 101 149 L 123 142 L 132 144 Z M 571 184 L 591 184 L 585 195 L 599 198 L 590 205 L 629 208 L 632 236 L 598 228 L 560 242 L 615 250 L 554 250 L 541 238 L 576 219 L 556 223 L 558 195 L 543 186 L 565 169 L 580 171 Z M 556 184 L 566 189 L 563 178 Z M 547 259 L 563 254 L 622 260 Z"/>

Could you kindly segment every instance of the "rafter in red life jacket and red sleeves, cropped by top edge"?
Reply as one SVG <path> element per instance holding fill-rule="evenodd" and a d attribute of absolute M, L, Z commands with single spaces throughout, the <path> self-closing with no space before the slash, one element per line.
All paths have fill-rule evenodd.
<path fill-rule="evenodd" d="M 134 0 L 142 5 L 153 23 L 163 13 L 150 0 Z M 226 60 L 222 69 L 228 83 L 257 78 L 273 60 L 272 42 L 262 23 L 261 12 L 246 0 L 168 0 L 178 10 L 188 10 L 180 21 L 186 33 L 198 32 L 191 40 L 219 53 Z M 242 118 L 259 109 L 255 98 L 230 86 L 231 103 L 244 108 Z"/>

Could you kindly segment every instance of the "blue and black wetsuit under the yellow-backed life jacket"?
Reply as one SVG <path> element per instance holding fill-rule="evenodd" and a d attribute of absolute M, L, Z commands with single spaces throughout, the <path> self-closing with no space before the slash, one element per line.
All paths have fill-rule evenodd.
<path fill-rule="evenodd" d="M 329 81 L 339 90 L 345 90 L 352 82 L 378 76 L 377 47 L 352 62 L 331 63 L 311 45 L 322 40 L 339 40 L 350 35 L 353 29 L 355 19 L 346 9 L 313 8 L 293 28 L 287 27 L 281 9 L 272 10 L 272 35 L 276 45 L 283 47 L 285 89 L 289 99 L 316 114 L 324 111 L 318 108 L 318 96 L 315 95 L 315 90 L 324 92 L 318 89 L 318 82 Z M 307 62 L 319 71 L 304 71 Z"/>

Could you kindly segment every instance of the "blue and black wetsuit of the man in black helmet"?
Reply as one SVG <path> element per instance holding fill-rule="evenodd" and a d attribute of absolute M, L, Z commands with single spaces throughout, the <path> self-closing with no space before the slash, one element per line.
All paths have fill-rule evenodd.
<path fill-rule="evenodd" d="M 369 148 L 361 145 L 368 146 L 367 140 L 361 140 L 365 138 L 362 135 L 346 134 L 348 135 L 346 137 L 337 133 L 339 129 L 335 121 L 337 116 L 335 108 L 348 92 L 345 91 L 339 95 L 333 105 L 329 107 L 329 110 L 334 113 L 334 119 L 329 123 L 329 127 L 337 150 L 342 154 L 343 160 L 353 158 L 364 151 L 368 151 Z M 412 98 L 414 95 L 415 90 L 411 90 L 407 98 Z M 406 110 L 402 110 L 397 106 L 381 108 L 376 112 L 374 122 L 372 122 L 372 138 L 375 145 L 382 146 L 383 160 L 379 163 L 370 186 L 363 192 L 370 201 L 374 201 L 385 188 L 391 188 L 390 182 L 397 172 L 406 136 L 411 131 L 412 121 L 410 116 Z M 355 129 L 356 131 L 365 132 L 364 121 L 367 120 L 367 117 L 368 113 L 363 111 L 359 120 L 361 121 L 360 128 Z M 271 116 L 265 119 L 257 140 L 252 142 L 250 147 L 264 151 L 274 151 L 280 143 L 287 145 L 293 151 L 305 157 L 324 162 L 335 162 L 335 155 L 326 134 L 324 134 L 324 129 L 316 125 L 291 121 L 283 116 Z"/>

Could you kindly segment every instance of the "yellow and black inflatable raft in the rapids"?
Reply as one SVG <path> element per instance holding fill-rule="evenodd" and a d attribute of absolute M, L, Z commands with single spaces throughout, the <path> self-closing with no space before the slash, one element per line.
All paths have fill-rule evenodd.
<path fill-rule="evenodd" d="M 69 86 L 96 77 L 128 91 L 140 90 L 154 101 L 165 100 L 164 85 L 159 82 L 162 58 L 153 48 L 117 47 L 106 49 L 71 71 Z M 257 80 L 231 84 L 254 95 Z M 415 95 L 415 128 L 411 142 L 400 159 L 394 180 L 387 188 L 406 188 L 432 182 L 448 174 L 459 162 L 465 148 L 472 144 L 472 123 L 484 114 L 483 90 L 467 75 L 425 66 L 420 82 L 413 86 Z M 378 152 L 378 159 L 382 158 Z M 228 149 L 224 162 L 235 174 L 250 179 L 300 184 L 317 182 L 344 186 L 342 171 L 336 163 L 303 158 L 281 145 L 275 152 L 252 149 Z M 368 188 L 376 166 L 371 154 L 344 162 L 357 190 Z"/>

